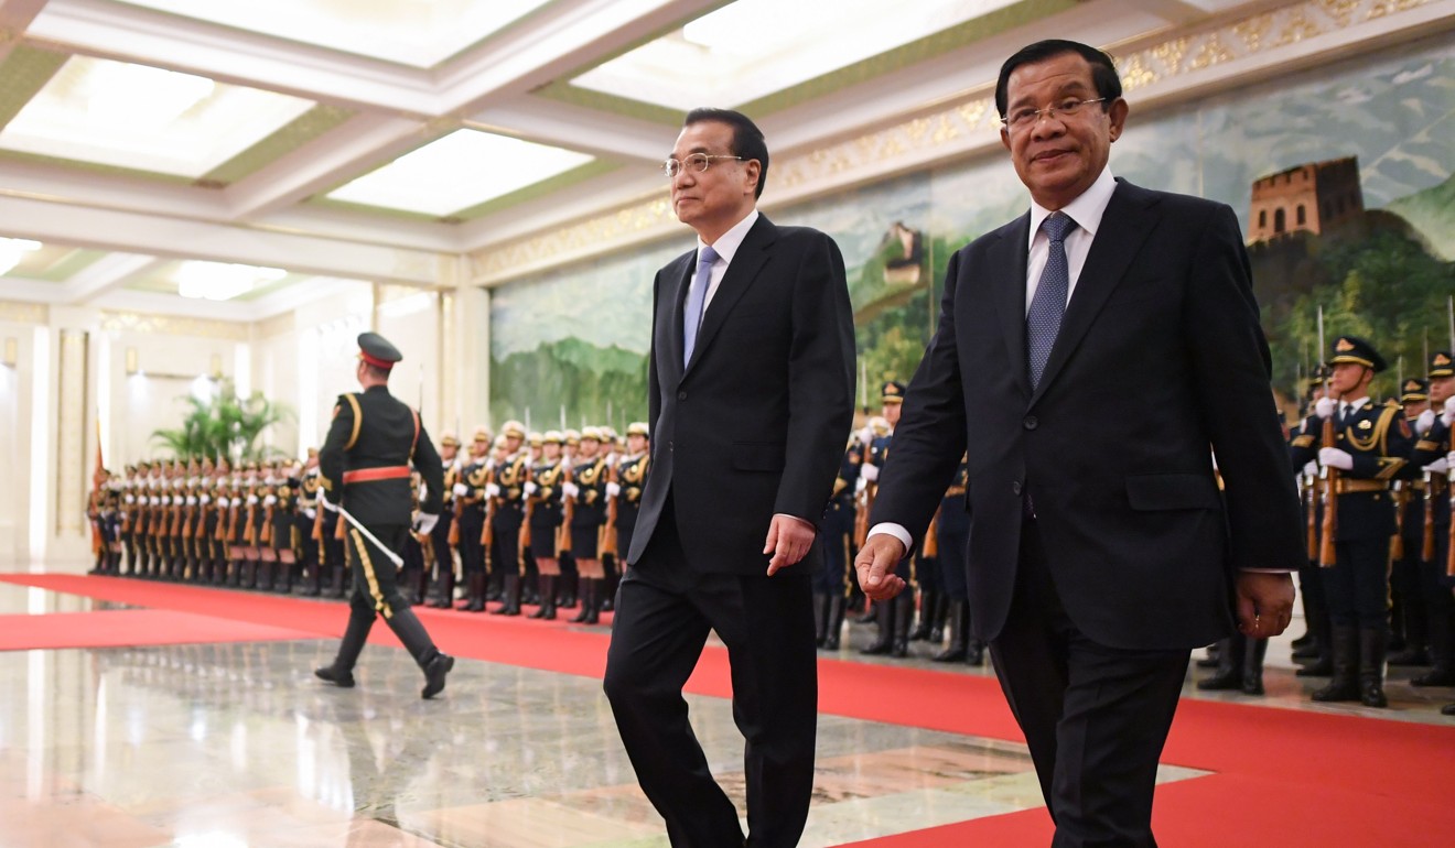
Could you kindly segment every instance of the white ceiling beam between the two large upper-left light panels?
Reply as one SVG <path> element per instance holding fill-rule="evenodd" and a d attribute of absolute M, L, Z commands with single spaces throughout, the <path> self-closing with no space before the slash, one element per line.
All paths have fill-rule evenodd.
<path fill-rule="evenodd" d="M 121 3 L 51 0 L 26 36 L 67 51 L 356 109 L 432 116 L 439 108 L 425 71 Z"/>

